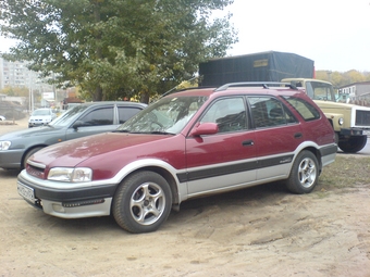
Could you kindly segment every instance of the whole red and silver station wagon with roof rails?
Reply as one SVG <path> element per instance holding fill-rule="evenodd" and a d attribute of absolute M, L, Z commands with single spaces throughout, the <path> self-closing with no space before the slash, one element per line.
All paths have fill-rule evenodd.
<path fill-rule="evenodd" d="M 336 151 L 329 121 L 300 90 L 227 84 L 168 95 L 112 133 L 36 152 L 17 189 L 47 214 L 112 214 L 148 232 L 196 197 L 275 180 L 308 193 Z"/>

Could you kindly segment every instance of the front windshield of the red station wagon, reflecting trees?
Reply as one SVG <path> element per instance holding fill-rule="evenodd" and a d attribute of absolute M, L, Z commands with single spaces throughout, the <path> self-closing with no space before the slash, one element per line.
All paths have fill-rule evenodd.
<path fill-rule="evenodd" d="M 162 98 L 136 114 L 115 131 L 178 134 L 205 103 L 207 97 Z"/>

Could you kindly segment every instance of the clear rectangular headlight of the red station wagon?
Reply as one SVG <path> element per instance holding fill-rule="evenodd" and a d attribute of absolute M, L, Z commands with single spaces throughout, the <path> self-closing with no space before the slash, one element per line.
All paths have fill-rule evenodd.
<path fill-rule="evenodd" d="M 73 182 L 90 181 L 92 179 L 92 171 L 87 167 L 54 167 L 50 169 L 48 179 Z"/>

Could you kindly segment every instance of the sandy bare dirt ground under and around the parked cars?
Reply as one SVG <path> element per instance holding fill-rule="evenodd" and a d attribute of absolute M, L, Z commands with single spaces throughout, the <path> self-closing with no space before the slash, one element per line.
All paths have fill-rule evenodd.
<path fill-rule="evenodd" d="M 131 235 L 111 217 L 46 215 L 17 194 L 17 173 L 0 169 L 0 276 L 368 277 L 363 174 L 368 185 L 324 193 L 269 184 L 187 201 L 158 231 Z"/>

